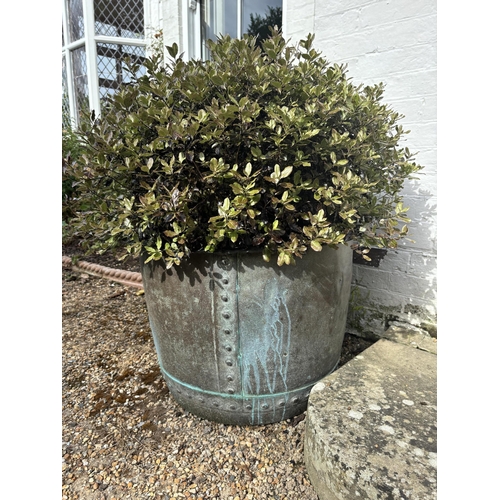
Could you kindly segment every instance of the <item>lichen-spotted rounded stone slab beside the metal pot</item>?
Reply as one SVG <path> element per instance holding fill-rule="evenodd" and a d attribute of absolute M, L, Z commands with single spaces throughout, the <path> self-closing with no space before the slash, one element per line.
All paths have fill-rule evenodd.
<path fill-rule="evenodd" d="M 321 500 L 437 498 L 436 365 L 382 339 L 313 387 L 304 458 Z"/>

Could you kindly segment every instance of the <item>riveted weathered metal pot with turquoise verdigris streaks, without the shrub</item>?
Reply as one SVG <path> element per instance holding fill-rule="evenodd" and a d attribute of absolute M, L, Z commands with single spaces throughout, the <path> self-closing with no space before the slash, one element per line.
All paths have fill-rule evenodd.
<path fill-rule="evenodd" d="M 260 425 L 305 410 L 340 358 L 352 251 L 278 267 L 260 252 L 142 264 L 160 367 L 172 395 L 209 420 Z"/>

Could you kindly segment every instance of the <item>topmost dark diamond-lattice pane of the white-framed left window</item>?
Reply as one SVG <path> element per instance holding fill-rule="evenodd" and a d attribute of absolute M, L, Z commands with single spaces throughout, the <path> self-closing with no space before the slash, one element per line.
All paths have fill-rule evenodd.
<path fill-rule="evenodd" d="M 143 0 L 95 0 L 96 35 L 144 38 Z"/>

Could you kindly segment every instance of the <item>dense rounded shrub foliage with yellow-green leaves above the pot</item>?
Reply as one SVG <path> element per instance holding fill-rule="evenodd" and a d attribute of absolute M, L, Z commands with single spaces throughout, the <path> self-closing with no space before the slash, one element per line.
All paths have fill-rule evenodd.
<path fill-rule="evenodd" d="M 193 251 L 259 248 L 268 261 L 349 243 L 397 246 L 400 192 L 419 167 L 383 86 L 355 86 L 309 35 L 211 42 L 211 61 L 167 47 L 82 125 L 72 167 L 87 248 L 125 244 L 178 264 Z M 131 73 L 135 71 L 132 68 Z"/>

